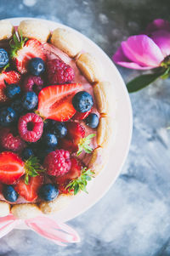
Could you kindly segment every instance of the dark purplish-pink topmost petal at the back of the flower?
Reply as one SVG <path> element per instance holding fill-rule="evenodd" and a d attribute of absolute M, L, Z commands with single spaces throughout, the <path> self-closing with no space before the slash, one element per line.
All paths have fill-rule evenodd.
<path fill-rule="evenodd" d="M 162 19 L 154 20 L 146 27 L 146 34 L 159 30 L 170 31 L 170 23 L 167 20 Z"/>

